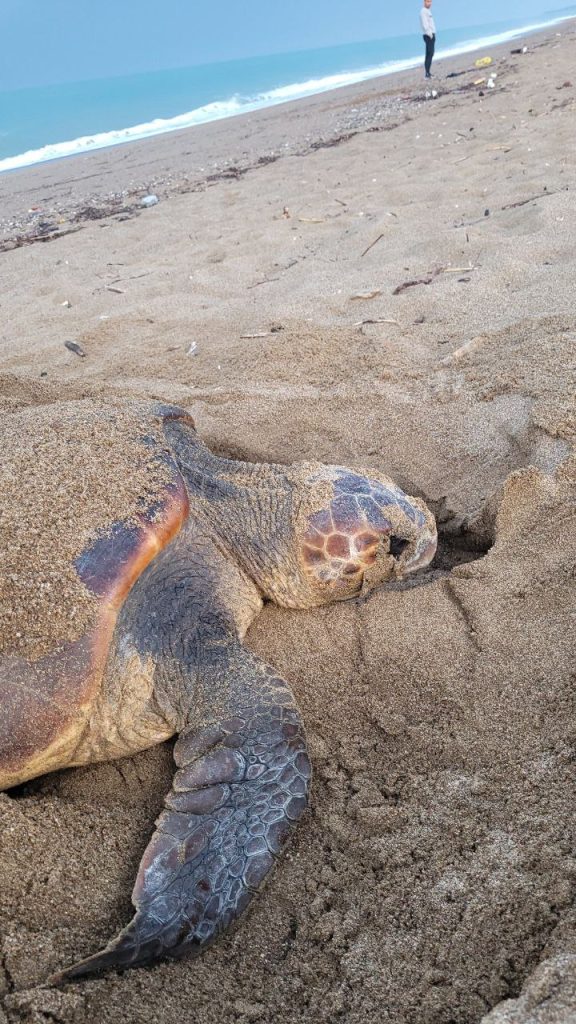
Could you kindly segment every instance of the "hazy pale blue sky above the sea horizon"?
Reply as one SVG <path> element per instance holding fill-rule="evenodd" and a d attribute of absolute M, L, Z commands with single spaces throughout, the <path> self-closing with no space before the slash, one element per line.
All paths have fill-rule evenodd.
<path fill-rule="evenodd" d="M 434 0 L 442 28 L 553 0 Z M 77 82 L 419 33 L 420 0 L 0 0 L 0 89 Z"/>

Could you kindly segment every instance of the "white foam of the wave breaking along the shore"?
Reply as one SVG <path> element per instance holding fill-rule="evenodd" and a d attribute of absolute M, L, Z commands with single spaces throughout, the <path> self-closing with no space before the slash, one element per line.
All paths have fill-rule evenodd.
<path fill-rule="evenodd" d="M 469 53 L 470 50 L 497 46 L 499 43 L 518 39 L 519 36 L 524 36 L 527 33 L 537 32 L 540 29 L 548 29 L 554 25 L 559 25 L 561 22 L 567 22 L 571 16 L 556 17 L 549 22 L 527 25 L 521 29 L 510 29 L 508 32 L 502 32 L 499 35 L 465 40 L 453 47 L 439 50 L 435 59 L 442 60 L 445 57 Z M 355 85 L 357 82 L 365 82 L 371 78 L 379 78 L 382 75 L 392 75 L 395 72 L 407 71 L 410 68 L 418 67 L 421 60 L 421 54 L 414 57 L 407 57 L 403 60 L 389 60 L 385 63 L 365 68 L 361 71 L 341 72 L 336 75 L 327 75 L 324 78 L 308 79 L 306 82 L 295 82 L 293 85 L 284 85 L 269 92 L 261 92 L 256 96 L 232 96 L 231 99 L 207 103 L 205 106 L 199 106 L 194 111 L 189 111 L 187 114 L 178 114 L 174 118 L 157 118 L 146 124 L 133 125 L 130 128 L 119 128 L 113 131 L 100 132 L 96 135 L 83 135 L 68 142 L 54 142 L 43 146 L 41 150 L 29 150 L 28 153 L 19 154 L 16 157 L 7 157 L 5 160 L 0 160 L 0 172 L 16 170 L 18 167 L 29 167 L 31 164 L 41 164 L 47 160 L 57 160 L 61 157 L 78 156 L 89 153 L 91 150 L 102 150 L 107 146 L 121 145 L 123 142 L 135 142 L 138 139 L 151 138 L 153 135 L 163 135 L 166 132 L 179 131 L 182 128 L 192 128 L 195 125 L 206 124 L 208 121 L 220 121 L 222 118 L 235 117 L 238 114 L 247 114 L 250 111 L 257 111 L 263 106 L 285 103 L 291 99 L 302 99 L 304 96 L 328 92 L 330 89 L 338 89 L 345 85 Z"/>

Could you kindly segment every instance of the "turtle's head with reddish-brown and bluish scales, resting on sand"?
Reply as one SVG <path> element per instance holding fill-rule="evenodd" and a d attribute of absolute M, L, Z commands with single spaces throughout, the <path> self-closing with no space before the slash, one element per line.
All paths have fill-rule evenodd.
<path fill-rule="evenodd" d="M 434 558 L 431 512 L 383 474 L 306 464 L 296 489 L 294 604 L 346 600 Z M 289 603 L 283 598 L 279 603 Z"/>

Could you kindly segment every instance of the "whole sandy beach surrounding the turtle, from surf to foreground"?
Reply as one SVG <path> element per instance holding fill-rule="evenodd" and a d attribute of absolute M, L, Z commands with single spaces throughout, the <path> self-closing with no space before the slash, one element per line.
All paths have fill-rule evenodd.
<path fill-rule="evenodd" d="M 378 467 L 441 532 L 417 585 L 250 631 L 312 805 L 201 959 L 38 987 L 128 920 L 170 744 L 0 797 L 2 1024 L 576 1014 L 575 25 L 526 43 L 491 90 L 465 56 L 434 99 L 410 72 L 0 178 L 5 411 L 177 402 L 218 453 Z"/>

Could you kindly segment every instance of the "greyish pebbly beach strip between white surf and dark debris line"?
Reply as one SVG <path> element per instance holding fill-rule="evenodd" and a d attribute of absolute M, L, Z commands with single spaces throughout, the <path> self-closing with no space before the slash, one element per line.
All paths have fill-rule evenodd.
<path fill-rule="evenodd" d="M 528 53 L 522 55 L 529 57 L 550 45 L 560 25 L 570 31 L 576 17 L 492 47 L 492 70 L 510 70 L 511 42 L 531 41 Z M 474 88 L 475 79 L 464 76 L 482 77 L 474 60 L 484 49 L 443 58 L 443 74 L 436 75 L 429 86 L 422 82 L 419 68 L 398 71 L 151 138 L 3 172 L 0 253 L 60 238 L 89 220 L 137 215 L 139 200 L 147 193 L 167 199 L 201 190 L 283 157 L 305 156 L 361 132 L 396 128 L 415 105 L 426 101 L 430 89 L 442 98 Z M 453 73 L 459 77 L 449 79 Z M 99 179 L 96 188 L 88 184 L 94 179 Z"/>

